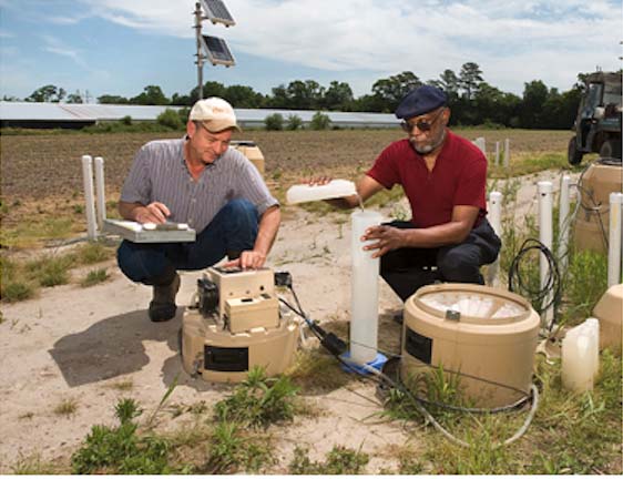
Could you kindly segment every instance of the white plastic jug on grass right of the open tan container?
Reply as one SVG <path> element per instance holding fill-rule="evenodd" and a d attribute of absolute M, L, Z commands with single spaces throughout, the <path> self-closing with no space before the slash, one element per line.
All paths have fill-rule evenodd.
<path fill-rule="evenodd" d="M 583 393 L 593 389 L 599 370 L 599 320 L 589 318 L 569 329 L 562 340 L 562 385 Z"/>

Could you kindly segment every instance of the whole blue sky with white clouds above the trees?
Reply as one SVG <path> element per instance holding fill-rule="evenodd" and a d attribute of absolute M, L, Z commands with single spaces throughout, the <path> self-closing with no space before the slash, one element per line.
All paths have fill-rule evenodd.
<path fill-rule="evenodd" d="M 203 22 L 236 65 L 204 81 L 262 93 L 294 80 L 420 80 L 477 63 L 489 84 L 521 95 L 542 80 L 569 90 L 579 72 L 621 68 L 621 0 L 225 0 L 236 24 Z M 45 84 L 68 93 L 167 96 L 197 84 L 194 0 L 0 0 L 0 96 Z"/>

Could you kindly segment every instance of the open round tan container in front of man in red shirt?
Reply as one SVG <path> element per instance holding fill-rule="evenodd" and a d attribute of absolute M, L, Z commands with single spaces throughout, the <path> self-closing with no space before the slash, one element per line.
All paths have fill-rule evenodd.
<path fill-rule="evenodd" d="M 446 283 L 407 299 L 402 379 L 443 367 L 477 407 L 512 404 L 529 394 L 540 318 L 513 293 Z M 408 379 L 407 379 L 408 380 Z"/>

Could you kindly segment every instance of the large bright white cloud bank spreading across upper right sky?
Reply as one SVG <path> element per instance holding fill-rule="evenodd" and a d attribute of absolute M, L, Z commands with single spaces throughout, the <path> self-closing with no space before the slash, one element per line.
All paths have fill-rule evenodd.
<path fill-rule="evenodd" d="M 194 0 L 82 0 L 89 14 L 142 31 L 192 38 Z M 617 0 L 227 0 L 233 28 L 204 22 L 243 52 L 293 65 L 422 79 L 473 61 L 484 79 L 560 79 L 617 67 Z M 552 63 L 551 59 L 554 59 Z M 552 64 L 562 70 L 553 70 Z M 510 70 L 503 70 L 510 68 Z M 378 77 L 377 77 L 378 78 Z M 566 82 L 568 83 L 568 82 Z M 499 84 L 508 89 L 507 84 Z"/>

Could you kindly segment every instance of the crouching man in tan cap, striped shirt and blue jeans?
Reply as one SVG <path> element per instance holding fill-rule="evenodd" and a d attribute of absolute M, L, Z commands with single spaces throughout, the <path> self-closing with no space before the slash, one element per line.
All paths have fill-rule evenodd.
<path fill-rule="evenodd" d="M 119 202 L 125 220 L 187 223 L 194 243 L 131 243 L 118 251 L 121 271 L 153 286 L 153 322 L 175 316 L 178 269 L 203 269 L 227 256 L 226 266 L 259 268 L 280 223 L 279 204 L 255 166 L 229 147 L 239 128 L 229 103 L 200 100 L 186 135 L 145 144 L 134 157 Z"/>

